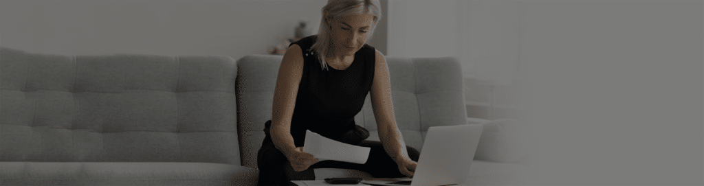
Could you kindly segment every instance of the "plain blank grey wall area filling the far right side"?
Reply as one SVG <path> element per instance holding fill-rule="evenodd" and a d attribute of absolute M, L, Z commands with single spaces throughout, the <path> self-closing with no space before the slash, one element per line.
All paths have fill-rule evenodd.
<path fill-rule="evenodd" d="M 522 1 L 538 185 L 701 185 L 704 1 Z"/>

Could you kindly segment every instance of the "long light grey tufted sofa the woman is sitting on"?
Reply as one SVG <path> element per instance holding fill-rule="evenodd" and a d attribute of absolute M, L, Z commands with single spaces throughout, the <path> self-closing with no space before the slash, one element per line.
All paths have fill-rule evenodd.
<path fill-rule="evenodd" d="M 0 47 L 0 185 L 256 185 L 256 152 L 281 59 Z M 466 118 L 454 58 L 387 61 L 407 145 L 422 150 L 430 126 L 480 123 L 493 133 L 491 121 Z M 368 102 L 356 122 L 378 140 Z M 481 154 L 470 185 L 513 185 L 527 170 Z M 369 176 L 337 168 L 315 173 L 318 180 Z"/>

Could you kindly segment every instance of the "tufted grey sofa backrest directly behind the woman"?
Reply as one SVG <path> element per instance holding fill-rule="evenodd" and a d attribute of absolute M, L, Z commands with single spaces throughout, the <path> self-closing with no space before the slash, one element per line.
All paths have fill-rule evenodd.
<path fill-rule="evenodd" d="M 271 119 L 274 88 L 282 55 L 247 55 L 237 61 L 237 123 L 242 165 L 256 168 L 256 154 L 264 140 L 264 123 Z M 467 123 L 463 78 L 455 58 L 386 58 L 391 97 L 406 145 L 422 150 L 431 126 Z M 356 124 L 379 140 L 377 122 L 367 94 Z"/>

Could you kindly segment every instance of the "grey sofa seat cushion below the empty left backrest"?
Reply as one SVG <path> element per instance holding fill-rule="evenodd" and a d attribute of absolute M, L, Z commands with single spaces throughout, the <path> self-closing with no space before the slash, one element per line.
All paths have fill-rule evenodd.
<path fill-rule="evenodd" d="M 245 166 L 189 162 L 0 162 L 0 185 L 256 185 Z"/>

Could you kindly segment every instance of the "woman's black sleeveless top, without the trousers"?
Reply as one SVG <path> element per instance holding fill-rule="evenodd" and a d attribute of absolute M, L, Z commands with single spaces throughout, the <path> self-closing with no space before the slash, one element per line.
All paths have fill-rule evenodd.
<path fill-rule="evenodd" d="M 303 52 L 303 75 L 291 118 L 296 147 L 303 146 L 306 130 L 333 140 L 352 130 L 374 80 L 376 51 L 372 46 L 364 44 L 346 69 L 328 66 L 325 70 L 315 55 L 318 52 L 310 48 L 315 39 L 316 35 L 307 36 L 292 43 Z"/>

